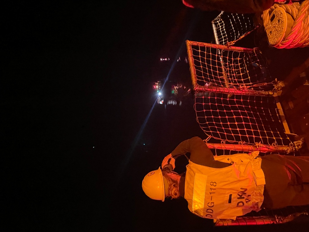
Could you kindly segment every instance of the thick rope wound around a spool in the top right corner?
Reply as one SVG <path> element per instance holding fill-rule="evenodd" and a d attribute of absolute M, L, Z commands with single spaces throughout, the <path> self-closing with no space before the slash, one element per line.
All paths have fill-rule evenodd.
<path fill-rule="evenodd" d="M 262 18 L 270 45 L 276 48 L 309 46 L 309 0 L 277 2 L 263 11 Z"/>

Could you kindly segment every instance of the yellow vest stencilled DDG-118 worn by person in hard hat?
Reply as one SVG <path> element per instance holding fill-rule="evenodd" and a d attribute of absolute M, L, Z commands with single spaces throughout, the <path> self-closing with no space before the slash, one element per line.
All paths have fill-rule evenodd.
<path fill-rule="evenodd" d="M 214 157 L 231 163 L 225 168 L 210 168 L 189 161 L 184 191 L 189 210 L 199 217 L 233 220 L 252 210 L 260 211 L 265 176 L 258 154 Z"/>

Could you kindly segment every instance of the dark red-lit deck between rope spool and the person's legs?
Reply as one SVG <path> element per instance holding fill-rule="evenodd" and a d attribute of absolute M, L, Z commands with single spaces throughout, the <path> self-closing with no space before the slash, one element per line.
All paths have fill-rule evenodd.
<path fill-rule="evenodd" d="M 294 141 L 303 138 L 295 155 L 309 155 L 309 47 L 261 48 L 273 78 L 283 81 L 279 102 Z M 294 135 L 293 135 L 294 134 Z"/>

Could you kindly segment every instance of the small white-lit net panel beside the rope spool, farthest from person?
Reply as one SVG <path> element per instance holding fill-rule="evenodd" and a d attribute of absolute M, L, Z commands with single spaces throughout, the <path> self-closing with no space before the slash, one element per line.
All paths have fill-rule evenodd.
<path fill-rule="evenodd" d="M 216 44 L 234 44 L 257 28 L 252 15 L 222 11 L 213 21 L 212 27 Z"/>

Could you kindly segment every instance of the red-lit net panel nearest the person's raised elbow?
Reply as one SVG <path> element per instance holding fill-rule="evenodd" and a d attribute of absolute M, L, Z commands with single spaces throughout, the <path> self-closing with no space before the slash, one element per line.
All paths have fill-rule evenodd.
<path fill-rule="evenodd" d="M 200 93 L 196 92 L 194 109 L 205 134 L 243 144 L 287 146 L 291 143 L 274 97 Z"/>

